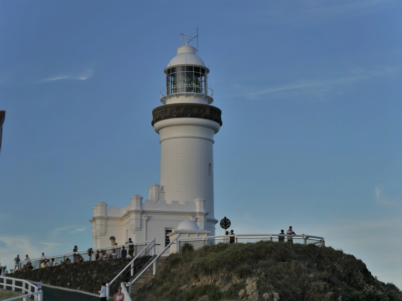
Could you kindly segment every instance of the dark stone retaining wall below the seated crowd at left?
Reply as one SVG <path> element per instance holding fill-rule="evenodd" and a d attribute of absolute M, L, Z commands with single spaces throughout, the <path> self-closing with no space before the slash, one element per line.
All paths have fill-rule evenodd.
<path fill-rule="evenodd" d="M 143 256 L 136 260 L 134 274 L 136 274 L 151 258 Z M 131 258 L 109 259 L 102 261 L 86 261 L 65 265 L 50 266 L 20 273 L 7 274 L 9 277 L 41 281 L 44 284 L 98 293 L 100 283 L 111 281 L 129 262 Z M 127 272 L 128 271 L 128 272 Z M 117 292 L 121 282 L 128 282 L 131 278 L 129 269 L 119 281 L 112 283 L 111 295 Z"/>

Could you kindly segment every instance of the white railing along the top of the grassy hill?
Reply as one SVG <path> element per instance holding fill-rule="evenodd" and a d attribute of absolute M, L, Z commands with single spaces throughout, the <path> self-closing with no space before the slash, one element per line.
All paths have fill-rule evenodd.
<path fill-rule="evenodd" d="M 261 240 L 267 241 L 291 241 L 295 243 L 307 244 L 317 244 L 320 247 L 325 246 L 324 237 L 313 236 L 313 235 L 287 235 L 287 234 L 229 234 L 229 235 L 216 235 L 216 236 L 205 236 L 205 237 L 183 237 L 178 238 L 177 245 L 173 248 L 171 253 L 180 252 L 180 247 L 184 242 L 191 242 L 194 249 L 198 249 L 205 245 L 216 244 L 219 242 L 223 243 L 247 243 L 247 242 L 257 242 Z"/>

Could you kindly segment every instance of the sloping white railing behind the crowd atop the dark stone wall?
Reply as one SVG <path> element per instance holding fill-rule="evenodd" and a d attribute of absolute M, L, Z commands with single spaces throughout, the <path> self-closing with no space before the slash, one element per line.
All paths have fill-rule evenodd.
<path fill-rule="evenodd" d="M 71 252 L 71 253 L 65 253 L 65 254 L 58 254 L 58 255 L 52 255 L 52 256 L 44 256 L 44 257 L 40 257 L 40 258 L 35 258 L 35 259 L 31 259 L 31 260 L 21 260 L 20 261 L 20 266 L 19 269 L 21 270 L 21 266 L 22 264 L 28 263 L 28 261 L 31 262 L 32 266 L 34 268 L 40 268 L 41 267 L 41 263 L 43 260 L 47 260 L 47 259 L 61 259 L 60 261 L 64 261 L 64 258 L 67 257 L 68 259 L 71 260 L 71 262 L 73 262 L 73 258 L 75 255 L 79 254 L 82 256 L 82 258 L 84 259 L 84 261 L 92 261 L 92 260 L 96 260 L 95 258 L 95 253 L 97 251 L 106 251 L 108 252 L 108 254 L 111 254 L 113 252 L 113 250 L 116 250 L 117 254 L 119 255 L 122 247 L 124 246 L 125 248 L 133 246 L 134 245 L 134 256 L 138 253 L 138 248 L 142 245 L 145 245 L 149 242 L 152 242 L 152 240 L 146 240 L 146 241 L 139 241 L 139 242 L 133 242 L 133 243 L 125 243 L 125 244 L 121 244 L 121 245 L 117 245 L 117 246 L 110 246 L 110 247 L 105 247 L 105 248 L 96 248 L 96 249 L 92 249 L 92 254 L 88 255 L 88 250 L 85 251 L 77 251 L 77 252 Z M 102 254 L 102 253 L 101 253 Z M 128 254 L 127 254 L 128 255 Z M 117 258 L 120 258 L 120 255 L 117 256 Z M 52 261 L 50 261 L 51 263 Z"/>

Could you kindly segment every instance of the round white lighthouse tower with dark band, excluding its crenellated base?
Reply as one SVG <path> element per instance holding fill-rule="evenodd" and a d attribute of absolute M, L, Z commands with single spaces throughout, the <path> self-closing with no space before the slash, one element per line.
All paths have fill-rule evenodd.
<path fill-rule="evenodd" d="M 160 135 L 161 189 L 168 203 L 204 199 L 209 213 L 204 229 L 215 235 L 214 135 L 222 125 L 222 112 L 210 105 L 210 70 L 196 49 L 186 44 L 177 49 L 164 72 L 163 105 L 152 111 L 152 125 Z"/>

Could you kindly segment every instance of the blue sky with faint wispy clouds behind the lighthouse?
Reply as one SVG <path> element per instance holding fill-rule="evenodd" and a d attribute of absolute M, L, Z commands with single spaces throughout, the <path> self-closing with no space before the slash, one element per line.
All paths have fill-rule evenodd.
<path fill-rule="evenodd" d="M 1 0 L 0 263 L 93 247 L 95 204 L 147 198 L 163 69 L 198 28 L 223 120 L 215 217 L 237 234 L 323 236 L 402 288 L 401 13 L 392 0 Z"/>

